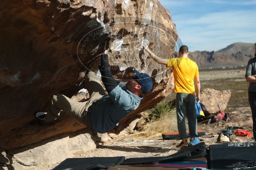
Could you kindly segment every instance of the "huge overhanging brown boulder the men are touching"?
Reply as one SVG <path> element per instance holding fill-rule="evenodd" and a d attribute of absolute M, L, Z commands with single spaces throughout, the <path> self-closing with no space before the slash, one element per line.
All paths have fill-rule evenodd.
<path fill-rule="evenodd" d="M 147 58 L 140 48 L 147 39 L 156 55 L 173 57 L 176 28 L 157 0 L 13 0 L 1 3 L 0 16 L 0 148 L 19 148 L 85 128 L 65 113 L 51 123 L 36 122 L 33 113 L 46 111 L 54 93 L 72 97 L 82 89 L 88 69 L 106 48 L 118 80 L 130 79 L 134 73 L 129 67 L 154 79 L 154 89 L 125 119 L 172 92 L 171 69 Z"/>

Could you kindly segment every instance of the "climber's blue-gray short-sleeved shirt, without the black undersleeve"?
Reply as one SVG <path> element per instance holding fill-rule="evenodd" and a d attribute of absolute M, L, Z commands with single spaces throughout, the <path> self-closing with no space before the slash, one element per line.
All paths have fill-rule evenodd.
<path fill-rule="evenodd" d="M 119 121 L 140 105 L 142 97 L 126 89 L 125 83 L 119 83 L 108 95 L 95 100 L 89 115 L 92 127 L 99 133 L 115 128 Z"/>

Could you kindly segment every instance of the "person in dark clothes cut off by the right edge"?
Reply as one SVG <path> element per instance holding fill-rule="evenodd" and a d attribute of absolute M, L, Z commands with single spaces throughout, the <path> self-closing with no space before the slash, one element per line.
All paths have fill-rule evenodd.
<path fill-rule="evenodd" d="M 254 58 L 248 61 L 245 79 L 250 82 L 248 98 L 252 110 L 253 136 L 256 141 L 256 43 L 254 44 Z"/>

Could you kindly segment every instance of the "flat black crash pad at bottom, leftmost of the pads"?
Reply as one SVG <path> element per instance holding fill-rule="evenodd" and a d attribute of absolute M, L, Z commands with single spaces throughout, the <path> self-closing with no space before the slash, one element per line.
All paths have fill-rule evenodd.
<path fill-rule="evenodd" d="M 124 162 L 125 157 L 68 158 L 52 170 L 98 170 L 108 169 Z"/>

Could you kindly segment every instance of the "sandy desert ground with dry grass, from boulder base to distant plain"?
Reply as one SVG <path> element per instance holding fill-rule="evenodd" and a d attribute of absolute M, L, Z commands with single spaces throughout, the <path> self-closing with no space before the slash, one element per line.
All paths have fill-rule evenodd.
<path fill-rule="evenodd" d="M 201 70 L 200 79 L 202 89 L 213 88 L 217 90 L 231 90 L 231 99 L 228 103 L 228 108 L 231 120 L 229 122 L 219 122 L 207 124 L 208 119 L 205 119 L 198 123 L 198 128 L 204 130 L 206 135 L 199 137 L 201 142 L 205 142 L 207 146 L 218 144 L 217 137 L 218 132 L 229 126 L 234 129 L 244 129 L 252 132 L 252 116 L 248 99 L 246 96 L 246 90 L 248 83 L 244 79 L 244 68 L 230 68 L 230 69 L 217 69 L 217 70 Z M 216 82 L 216 84 L 214 84 Z M 223 82 L 223 83 L 219 83 Z M 238 90 L 239 89 L 239 90 Z M 233 96 L 232 96 L 233 95 Z M 171 94 L 163 102 L 172 100 L 175 94 Z M 239 107 L 235 107 L 237 103 Z M 243 103 L 243 104 L 241 104 Z M 147 110 L 150 111 L 150 110 Z M 177 119 L 175 114 L 169 117 L 172 131 L 177 131 Z M 149 122 L 147 126 L 150 126 L 153 122 Z M 162 122 L 165 124 L 164 122 Z M 164 131 L 163 131 L 164 132 Z M 133 157 L 152 157 L 152 156 L 167 156 L 178 152 L 180 148 L 176 145 L 180 143 L 180 140 L 163 140 L 161 133 L 151 133 L 143 131 L 135 131 L 130 135 L 121 135 L 118 138 L 109 140 L 106 143 L 100 144 L 95 150 L 90 150 L 83 153 L 75 153 L 73 158 L 84 157 L 113 157 L 113 156 L 125 156 L 125 158 Z M 231 143 L 236 142 L 255 142 L 253 137 L 236 137 L 234 134 L 230 137 Z M 60 162 L 59 162 L 60 163 Z M 33 167 L 33 170 L 50 170 L 57 166 L 57 164 L 40 167 Z"/>

